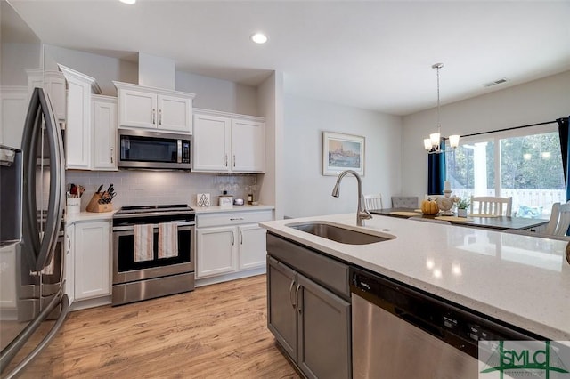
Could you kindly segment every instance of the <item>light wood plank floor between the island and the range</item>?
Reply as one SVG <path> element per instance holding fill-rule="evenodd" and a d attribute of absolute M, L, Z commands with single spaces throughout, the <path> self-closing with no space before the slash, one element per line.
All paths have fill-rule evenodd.
<path fill-rule="evenodd" d="M 298 378 L 267 330 L 265 275 L 71 312 L 24 378 Z"/>

